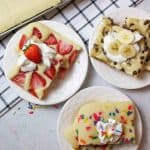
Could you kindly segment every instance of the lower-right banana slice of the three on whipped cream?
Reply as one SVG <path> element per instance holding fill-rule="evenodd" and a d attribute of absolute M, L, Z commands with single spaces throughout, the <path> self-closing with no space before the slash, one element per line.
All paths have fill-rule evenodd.
<path fill-rule="evenodd" d="M 136 55 L 137 51 L 133 45 L 121 45 L 119 48 L 120 54 L 125 58 L 132 58 Z"/>

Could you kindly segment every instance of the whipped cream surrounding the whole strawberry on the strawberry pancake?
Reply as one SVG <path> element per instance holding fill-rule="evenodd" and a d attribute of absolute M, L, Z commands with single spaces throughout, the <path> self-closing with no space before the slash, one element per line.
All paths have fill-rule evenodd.
<path fill-rule="evenodd" d="M 55 58 L 56 52 L 54 49 L 47 46 L 45 43 L 37 43 L 33 40 L 28 40 L 26 44 L 23 46 L 22 51 L 24 51 L 29 45 L 35 44 L 37 45 L 41 50 L 42 55 L 42 62 L 45 66 L 50 67 L 51 66 L 51 60 Z M 17 60 L 17 66 L 21 67 L 21 71 L 27 72 L 27 71 L 33 71 L 36 69 L 37 64 L 30 61 L 24 53 L 22 53 L 18 60 Z"/>

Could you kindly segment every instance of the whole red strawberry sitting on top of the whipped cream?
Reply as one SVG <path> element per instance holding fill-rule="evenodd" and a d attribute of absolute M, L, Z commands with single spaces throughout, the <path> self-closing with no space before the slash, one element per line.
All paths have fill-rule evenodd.
<path fill-rule="evenodd" d="M 25 56 L 31 60 L 32 62 L 34 63 L 40 63 L 41 60 L 42 60 L 42 56 L 41 56 L 41 50 L 40 48 L 35 45 L 35 44 L 32 44 L 30 45 L 25 51 Z"/>

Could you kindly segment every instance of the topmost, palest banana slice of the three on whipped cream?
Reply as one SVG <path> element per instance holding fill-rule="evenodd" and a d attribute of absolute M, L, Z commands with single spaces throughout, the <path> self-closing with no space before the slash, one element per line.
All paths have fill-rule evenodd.
<path fill-rule="evenodd" d="M 134 41 L 134 34 L 129 30 L 122 30 L 118 32 L 117 39 L 123 44 L 130 44 Z"/>

